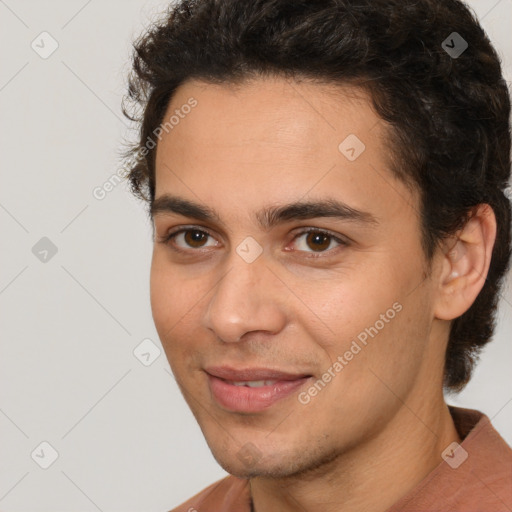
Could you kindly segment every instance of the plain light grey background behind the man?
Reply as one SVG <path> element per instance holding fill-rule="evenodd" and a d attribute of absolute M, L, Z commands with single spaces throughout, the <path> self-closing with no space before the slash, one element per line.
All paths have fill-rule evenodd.
<path fill-rule="evenodd" d="M 512 0 L 470 4 L 510 81 Z M 133 354 L 146 338 L 161 348 L 143 207 L 125 185 L 92 194 L 119 169 L 130 42 L 166 5 L 0 0 L 3 512 L 166 511 L 225 475 L 164 353 L 150 366 Z M 47 59 L 31 48 L 51 48 L 43 31 L 59 45 Z M 46 263 L 32 253 L 42 237 L 58 249 Z M 449 402 L 485 412 L 512 443 L 510 286 L 499 321 Z M 43 441 L 58 452 L 48 469 Z"/>

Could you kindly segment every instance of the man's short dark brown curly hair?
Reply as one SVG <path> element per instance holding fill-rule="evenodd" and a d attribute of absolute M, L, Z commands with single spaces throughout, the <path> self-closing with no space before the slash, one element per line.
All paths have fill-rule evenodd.
<path fill-rule="evenodd" d="M 454 32 L 468 45 L 460 56 L 448 53 Z M 493 334 L 511 251 L 510 98 L 472 12 L 458 0 L 181 0 L 134 50 L 123 112 L 139 123 L 140 137 L 125 157 L 132 157 L 131 190 L 149 208 L 156 150 L 146 143 L 176 88 L 192 79 L 270 75 L 355 84 L 369 93 L 392 126 L 393 171 L 420 192 L 427 261 L 476 205 L 492 207 L 497 236 L 487 279 L 452 321 L 446 351 L 445 389 L 461 390 Z"/>

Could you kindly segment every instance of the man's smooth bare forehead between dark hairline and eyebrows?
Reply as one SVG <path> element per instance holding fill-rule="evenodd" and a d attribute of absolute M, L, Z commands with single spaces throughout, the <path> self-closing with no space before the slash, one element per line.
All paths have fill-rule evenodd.
<path fill-rule="evenodd" d="M 171 116 L 179 121 L 157 146 L 157 198 L 172 191 L 218 206 L 222 196 L 223 204 L 256 210 L 263 200 L 338 190 L 367 210 L 382 196 L 383 173 L 394 179 L 389 128 L 356 87 L 276 77 L 191 81 L 176 90 L 163 123 Z"/>

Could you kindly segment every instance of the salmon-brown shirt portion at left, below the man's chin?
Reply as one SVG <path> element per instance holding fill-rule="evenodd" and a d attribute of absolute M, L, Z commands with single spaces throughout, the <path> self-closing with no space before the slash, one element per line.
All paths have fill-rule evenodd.
<path fill-rule="evenodd" d="M 248 480 L 226 476 L 170 512 L 249 512 Z"/>

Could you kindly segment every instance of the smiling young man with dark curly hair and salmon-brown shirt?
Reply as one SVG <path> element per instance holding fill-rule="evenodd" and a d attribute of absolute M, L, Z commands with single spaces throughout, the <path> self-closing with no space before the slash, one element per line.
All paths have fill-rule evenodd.
<path fill-rule="evenodd" d="M 443 396 L 510 255 L 508 91 L 468 9 L 182 1 L 133 64 L 153 317 L 231 475 L 174 510 L 512 510 L 512 450 Z"/>

